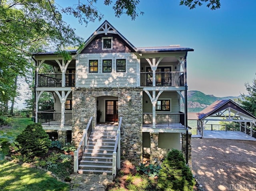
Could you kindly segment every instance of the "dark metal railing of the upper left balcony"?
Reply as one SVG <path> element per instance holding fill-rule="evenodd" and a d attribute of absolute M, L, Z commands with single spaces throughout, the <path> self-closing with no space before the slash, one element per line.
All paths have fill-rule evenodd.
<path fill-rule="evenodd" d="M 76 74 L 65 74 L 65 86 L 74 87 L 76 85 Z M 61 87 L 62 74 L 38 74 L 38 87 Z"/>

